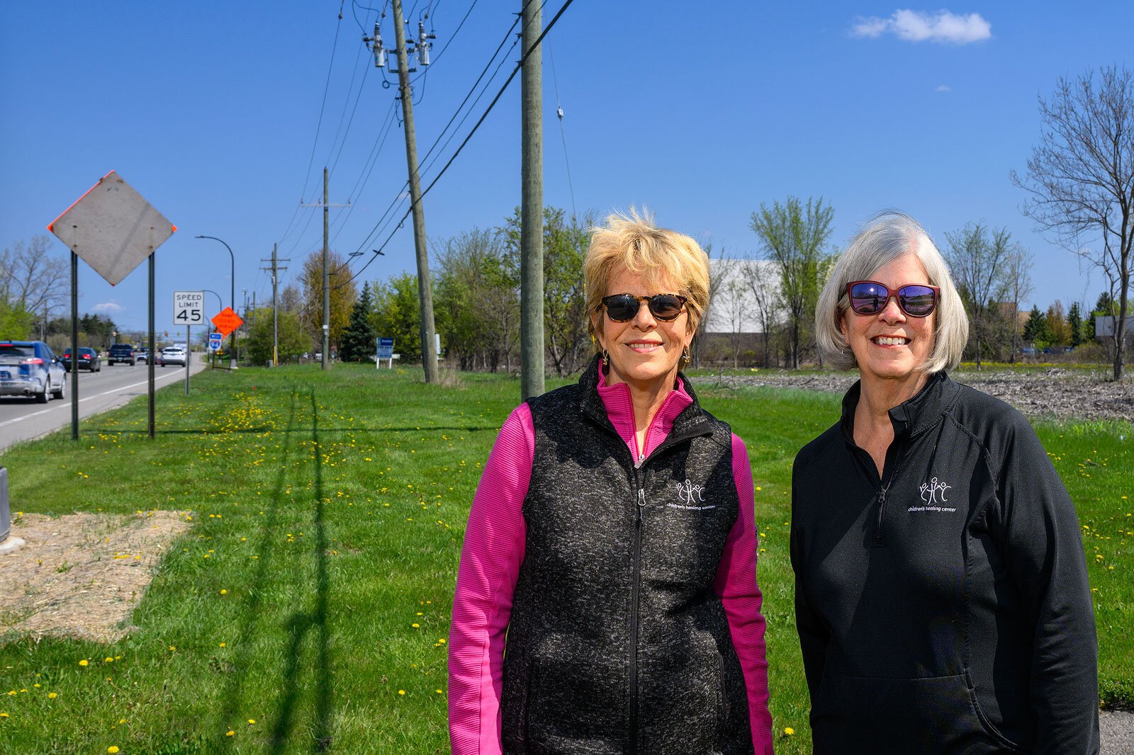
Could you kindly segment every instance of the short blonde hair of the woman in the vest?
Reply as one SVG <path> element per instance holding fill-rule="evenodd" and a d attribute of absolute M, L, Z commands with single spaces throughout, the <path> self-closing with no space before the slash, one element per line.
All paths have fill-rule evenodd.
<path fill-rule="evenodd" d="M 598 337 L 590 315 L 602 305 L 607 283 L 618 266 L 638 273 L 654 288 L 676 286 L 688 302 L 687 332 L 696 330 L 709 307 L 709 255 L 685 234 L 654 226 L 653 217 L 631 207 L 628 214 L 615 213 L 604 226 L 591 227 L 591 245 L 583 260 L 583 290 L 586 296 L 586 329 Z M 601 347 L 595 342 L 595 350 Z"/>

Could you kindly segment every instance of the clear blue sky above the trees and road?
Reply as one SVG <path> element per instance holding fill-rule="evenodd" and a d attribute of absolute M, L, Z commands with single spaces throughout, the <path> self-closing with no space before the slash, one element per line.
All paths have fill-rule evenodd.
<path fill-rule="evenodd" d="M 561 2 L 547 2 L 544 23 Z M 249 299 L 253 291 L 257 302 L 270 297 L 260 268 L 273 243 L 291 257 L 282 281 L 293 280 L 322 244 L 321 210 L 297 205 L 321 200 L 328 164 L 331 202 L 354 205 L 332 210 L 331 246 L 366 252 L 357 270 L 395 229 L 371 236 L 401 190 L 406 161 L 397 122 L 370 160 L 396 90 L 382 87 L 361 41 L 375 11 L 347 0 L 339 20 L 339 6 L 6 2 L 0 244 L 46 234 L 117 170 L 179 229 L 158 252 L 163 330 L 175 289 L 212 289 L 228 304 L 228 254 L 198 234 L 232 247 L 238 305 L 243 289 Z M 406 0 L 413 28 L 426 7 L 438 39 L 415 86 L 422 155 L 521 3 Z M 575 0 L 544 50 L 544 200 L 570 211 L 569 163 L 579 214 L 645 205 L 659 223 L 733 255 L 758 252 L 751 213 L 788 195 L 822 196 L 835 207 L 833 244 L 886 207 L 909 212 L 942 244 L 945 231 L 984 221 L 1007 227 L 1034 254 L 1027 305 L 1093 304 L 1101 277 L 1034 232 L 1008 173 L 1023 170 L 1040 134 L 1036 97 L 1058 77 L 1131 65 L 1132 22 L 1134 6 L 1120 1 L 721 2 L 691 12 L 691 3 L 668 0 Z M 390 12 L 382 35 L 392 46 Z M 425 184 L 484 111 L 517 50 L 441 159 L 423 161 Z M 425 197 L 431 258 L 438 241 L 499 226 L 519 203 L 518 84 L 517 76 Z M 52 240 L 62 257 L 66 247 Z M 359 281 L 415 270 L 408 221 L 384 251 Z M 82 311 L 144 325 L 145 265 L 117 287 L 83 263 L 79 279 Z M 206 303 L 212 314 L 215 298 Z"/>

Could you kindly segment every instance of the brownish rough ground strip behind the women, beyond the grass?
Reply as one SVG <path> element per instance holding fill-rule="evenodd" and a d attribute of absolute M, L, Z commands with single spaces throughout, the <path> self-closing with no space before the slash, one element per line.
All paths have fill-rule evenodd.
<path fill-rule="evenodd" d="M 1010 404 L 1023 414 L 1036 418 L 1057 419 L 1125 419 L 1134 422 L 1134 380 L 1114 382 L 1094 375 L 1058 367 L 1042 373 L 998 371 L 956 372 L 958 383 Z M 713 378 L 702 378 L 711 384 Z M 747 375 L 721 375 L 721 385 L 771 385 L 845 393 L 857 375 L 847 373 L 792 374 L 760 371 Z"/>

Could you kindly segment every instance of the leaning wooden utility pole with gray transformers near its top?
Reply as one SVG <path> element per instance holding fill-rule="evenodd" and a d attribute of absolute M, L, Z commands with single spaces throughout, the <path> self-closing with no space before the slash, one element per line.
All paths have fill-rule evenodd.
<path fill-rule="evenodd" d="M 437 345 L 433 325 L 433 289 L 429 280 L 429 254 L 425 251 L 425 213 L 422 209 L 422 187 L 417 175 L 417 138 L 414 135 L 414 103 L 409 88 L 409 63 L 406 54 L 406 29 L 401 20 L 401 0 L 392 0 L 393 33 L 398 44 L 398 92 L 401 99 L 401 116 L 406 127 L 406 162 L 409 168 L 409 201 L 414 214 L 414 249 L 417 254 L 417 298 L 421 304 L 422 324 L 422 362 L 425 367 L 425 382 L 435 383 Z M 424 31 L 417 43 L 418 59 L 423 65 L 428 61 L 429 42 Z M 425 51 L 425 58 L 422 51 Z M 325 270 L 325 266 L 324 266 Z M 325 273 L 324 273 L 325 274 Z M 325 337 L 324 337 L 325 338 Z M 324 353 L 323 358 L 327 358 Z"/>

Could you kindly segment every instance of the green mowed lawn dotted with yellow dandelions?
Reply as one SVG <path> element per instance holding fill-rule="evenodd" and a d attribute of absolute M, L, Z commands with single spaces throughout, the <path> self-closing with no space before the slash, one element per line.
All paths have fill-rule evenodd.
<path fill-rule="evenodd" d="M 788 485 L 839 397 L 713 382 L 694 378 L 746 441 L 755 477 L 777 748 L 807 753 Z M 78 443 L 61 432 L 6 452 L 14 511 L 176 510 L 192 529 L 120 642 L 0 626 L 0 752 L 447 752 L 462 534 L 518 395 L 513 379 L 435 387 L 420 371 L 354 365 L 204 372 L 188 397 L 159 392 L 155 441 L 143 399 L 84 421 Z M 1134 704 L 1131 426 L 1039 431 L 1080 509 L 1100 693 Z"/>

